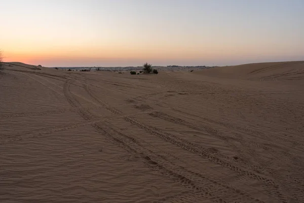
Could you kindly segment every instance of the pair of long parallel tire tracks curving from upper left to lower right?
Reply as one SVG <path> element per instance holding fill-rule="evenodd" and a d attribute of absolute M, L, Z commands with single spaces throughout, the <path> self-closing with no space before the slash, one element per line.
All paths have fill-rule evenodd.
<path fill-rule="evenodd" d="M 66 84 L 69 84 L 69 83 L 70 83 L 70 80 Z M 68 91 L 68 85 L 65 85 L 64 89 L 66 89 L 65 92 L 69 92 Z M 88 88 L 86 88 L 86 89 L 88 90 Z M 95 100 L 100 101 L 97 97 L 95 97 L 90 92 L 90 90 L 88 90 L 88 93 L 89 93 L 89 95 L 92 96 L 92 98 L 95 98 Z M 75 98 L 73 98 L 71 95 L 67 94 L 67 99 L 69 100 L 69 103 L 71 104 L 71 106 L 74 106 L 74 107 L 79 107 L 80 106 L 80 103 Z M 104 104 L 104 103 L 102 103 L 102 104 Z M 107 104 L 104 104 L 104 105 L 107 105 Z M 107 107 L 110 108 L 109 106 L 107 106 Z M 78 111 L 78 113 L 83 116 L 84 112 Z M 115 112 L 115 113 L 116 114 L 121 114 L 120 112 Z M 87 119 L 88 116 L 85 115 L 83 117 L 85 119 Z M 146 126 L 144 124 L 140 124 L 139 122 L 137 122 L 134 119 L 129 118 L 127 116 L 125 116 L 124 119 L 126 121 L 130 122 L 131 124 L 135 124 L 135 125 L 139 126 L 140 128 L 144 129 L 145 131 L 147 131 L 147 132 L 149 132 L 151 134 L 154 134 L 154 135 L 156 135 L 158 137 L 161 137 L 163 140 L 165 140 L 167 142 L 170 142 L 173 145 L 179 146 L 182 149 L 185 149 L 185 150 L 187 150 L 189 152 L 197 154 L 197 155 L 199 155 L 199 156 L 201 156 L 201 157 L 203 157 L 205 159 L 208 159 L 209 161 L 212 161 L 212 162 L 215 162 L 215 163 L 217 163 L 219 165 L 228 167 L 231 170 L 237 172 L 240 176 L 247 176 L 247 177 L 249 177 L 251 179 L 262 181 L 264 184 L 266 184 L 266 185 L 268 185 L 270 187 L 271 186 L 278 187 L 272 180 L 269 180 L 269 179 L 266 179 L 264 177 L 255 175 L 252 172 L 244 171 L 244 170 L 242 170 L 241 168 L 239 168 L 237 166 L 234 166 L 234 165 L 232 165 L 230 163 L 227 163 L 225 161 L 222 161 L 222 160 L 220 160 L 220 159 L 218 159 L 218 158 L 216 158 L 214 156 L 211 156 L 207 152 L 204 152 L 202 150 L 196 149 L 197 146 L 194 146 L 194 147 L 191 146 L 191 145 L 193 145 L 193 143 L 189 143 L 189 142 L 187 142 L 187 141 L 185 141 L 183 139 L 179 139 L 176 136 L 173 136 L 172 134 L 169 134 L 167 132 L 162 132 L 160 129 L 153 128 L 153 127 L 150 127 L 150 126 Z M 196 181 L 192 180 L 191 177 L 188 176 L 188 175 L 184 176 L 184 175 L 181 175 L 181 174 L 177 173 L 176 171 L 174 171 L 175 170 L 174 168 L 168 167 L 168 165 L 166 165 L 165 162 L 162 163 L 161 161 L 160 162 L 155 161 L 155 160 L 157 160 L 157 159 L 155 159 L 155 157 L 163 157 L 163 156 L 161 156 L 161 155 L 153 155 L 153 156 L 151 156 L 150 155 L 153 158 L 153 159 L 151 159 L 149 156 L 147 156 L 145 154 L 142 154 L 142 152 L 140 152 L 140 150 L 134 149 L 130 145 L 126 144 L 126 142 L 124 142 L 122 139 L 120 139 L 118 137 L 115 137 L 115 136 L 112 136 L 111 133 L 108 132 L 108 131 L 111 131 L 111 129 L 104 129 L 105 127 L 100 126 L 100 124 L 98 124 L 98 123 L 94 123 L 94 124 L 92 124 L 92 126 L 98 132 L 100 132 L 104 136 L 110 138 L 111 141 L 113 142 L 113 144 L 116 144 L 119 147 L 125 148 L 127 151 L 129 151 L 131 153 L 140 154 L 141 158 L 144 159 L 144 163 L 150 168 L 150 170 L 157 171 L 157 172 L 165 175 L 169 179 L 171 179 L 171 180 L 173 180 L 175 182 L 178 182 L 179 184 L 185 186 L 188 189 L 192 189 L 194 191 L 201 191 L 201 195 L 203 197 L 205 197 L 205 198 L 209 198 L 210 196 L 212 196 L 212 199 L 215 198 L 214 195 L 212 194 L 212 192 L 213 193 L 215 192 L 214 190 L 212 190 L 213 189 L 212 187 L 208 188 L 206 186 L 206 184 L 198 184 L 196 182 L 197 180 Z M 130 139 L 130 140 L 134 141 L 135 139 Z M 186 143 L 186 144 L 184 144 L 184 143 Z M 167 162 L 168 162 L 168 159 L 165 159 L 165 160 L 167 160 Z M 181 166 L 179 166 L 179 167 L 181 167 Z M 197 175 L 199 175 L 199 174 L 197 174 Z M 277 193 L 279 195 L 281 195 L 280 192 L 277 192 Z M 279 196 L 279 198 L 283 199 L 283 197 L 281 197 L 281 196 Z M 214 200 L 212 200 L 212 201 L 214 201 Z M 223 199 L 219 198 L 215 202 L 226 202 L 226 201 L 224 201 Z"/>

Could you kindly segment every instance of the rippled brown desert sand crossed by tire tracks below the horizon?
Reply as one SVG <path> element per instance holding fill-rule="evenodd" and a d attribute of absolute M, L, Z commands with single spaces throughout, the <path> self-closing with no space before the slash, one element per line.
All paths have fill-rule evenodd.
<path fill-rule="evenodd" d="M 0 202 L 304 202 L 304 62 L 0 74 Z"/>

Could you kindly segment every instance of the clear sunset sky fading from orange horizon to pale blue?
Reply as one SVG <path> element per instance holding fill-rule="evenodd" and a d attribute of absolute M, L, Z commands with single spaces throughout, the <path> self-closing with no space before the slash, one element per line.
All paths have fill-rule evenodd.
<path fill-rule="evenodd" d="M 0 0 L 4 61 L 43 66 L 304 60 L 303 0 Z"/>

